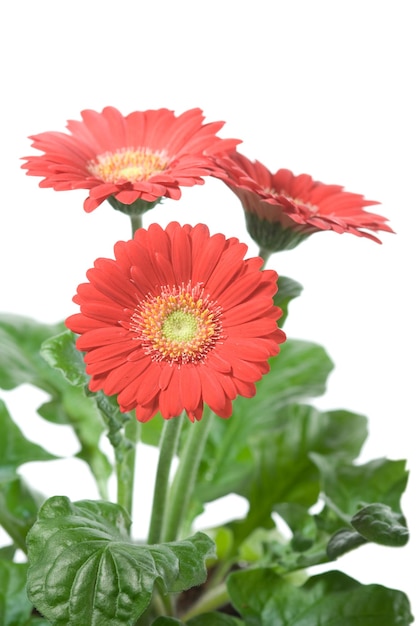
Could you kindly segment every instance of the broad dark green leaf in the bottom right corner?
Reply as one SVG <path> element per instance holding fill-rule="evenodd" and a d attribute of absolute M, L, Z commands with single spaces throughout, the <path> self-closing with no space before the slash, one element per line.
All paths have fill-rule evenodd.
<path fill-rule="evenodd" d="M 227 586 L 234 607 L 252 626 L 407 626 L 413 621 L 403 592 L 362 585 L 340 572 L 296 587 L 261 568 L 234 572 Z"/>

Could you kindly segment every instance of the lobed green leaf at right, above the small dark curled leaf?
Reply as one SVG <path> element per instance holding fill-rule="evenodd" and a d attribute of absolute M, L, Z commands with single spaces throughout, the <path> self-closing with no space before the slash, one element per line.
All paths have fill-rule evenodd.
<path fill-rule="evenodd" d="M 352 460 L 365 437 L 363 416 L 348 411 L 321 413 L 306 405 L 283 408 L 275 429 L 261 430 L 248 439 L 252 469 L 237 492 L 249 500 L 250 508 L 246 519 L 234 524 L 236 543 L 258 526 L 269 528 L 277 505 L 308 508 L 317 502 L 320 476 L 311 458 L 314 452 L 334 463 Z"/>

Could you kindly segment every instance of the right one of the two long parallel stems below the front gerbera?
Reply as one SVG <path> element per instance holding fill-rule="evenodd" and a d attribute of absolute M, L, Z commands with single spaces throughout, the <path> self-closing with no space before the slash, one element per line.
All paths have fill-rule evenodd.
<path fill-rule="evenodd" d="M 176 541 L 179 538 L 191 503 L 212 417 L 213 414 L 204 415 L 201 422 L 188 424 L 188 437 L 182 448 L 179 465 L 170 489 L 169 508 L 163 532 L 164 541 Z"/>

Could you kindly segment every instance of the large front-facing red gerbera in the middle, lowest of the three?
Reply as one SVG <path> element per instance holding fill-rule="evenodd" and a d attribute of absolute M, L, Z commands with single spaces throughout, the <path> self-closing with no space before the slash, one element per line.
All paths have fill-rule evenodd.
<path fill-rule="evenodd" d="M 90 389 L 118 394 L 142 422 L 159 410 L 199 420 L 204 403 L 229 417 L 285 341 L 276 272 L 203 224 L 153 224 L 114 250 L 87 272 L 74 297 L 80 313 L 66 320 L 81 335 Z"/>

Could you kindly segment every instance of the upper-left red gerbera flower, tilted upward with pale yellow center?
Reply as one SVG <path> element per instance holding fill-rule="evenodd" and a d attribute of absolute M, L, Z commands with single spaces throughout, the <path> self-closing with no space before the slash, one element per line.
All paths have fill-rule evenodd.
<path fill-rule="evenodd" d="M 201 109 L 176 117 L 173 111 L 135 111 L 124 117 L 106 107 L 82 111 L 83 121 L 69 121 L 70 134 L 33 135 L 32 146 L 44 154 L 24 157 L 31 176 L 43 176 L 40 187 L 57 191 L 90 189 L 84 208 L 93 211 L 104 200 L 120 210 L 138 204 L 143 212 L 163 196 L 178 200 L 181 186 L 202 184 L 217 171 L 210 156 L 235 149 L 237 139 L 216 133 L 224 122 L 203 124 Z M 116 206 L 115 206 L 116 205 Z"/>

